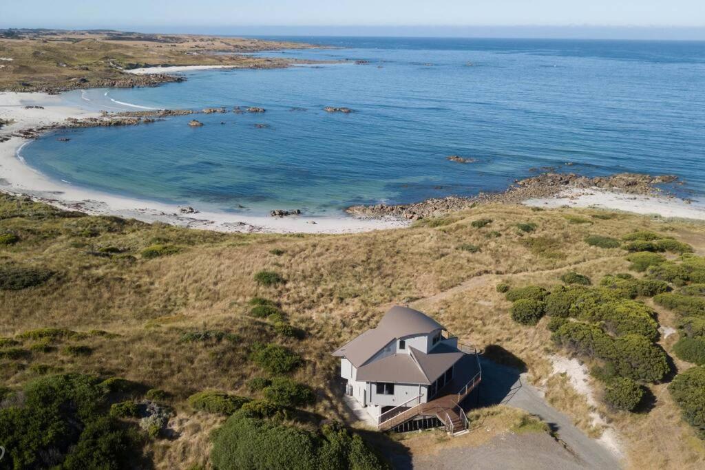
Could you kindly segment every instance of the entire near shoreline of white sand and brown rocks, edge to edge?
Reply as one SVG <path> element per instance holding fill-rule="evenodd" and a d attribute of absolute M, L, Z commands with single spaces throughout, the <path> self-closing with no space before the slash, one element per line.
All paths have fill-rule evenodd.
<path fill-rule="evenodd" d="M 192 66 L 194 67 L 194 66 Z M 200 67 L 200 66 L 195 66 Z M 209 68 L 212 68 L 210 66 Z M 216 66 L 222 68 L 221 66 Z M 26 106 L 42 106 L 27 108 Z M 135 218 L 147 223 L 162 222 L 186 228 L 200 228 L 238 233 L 358 233 L 370 230 L 402 228 L 417 218 L 439 216 L 455 210 L 469 209 L 473 204 L 505 203 L 525 204 L 546 208 L 561 206 L 596 207 L 637 214 L 658 214 L 664 217 L 705 220 L 705 206 L 689 204 L 682 199 L 665 197 L 652 183 L 658 178 L 632 175 L 641 178 L 638 190 L 620 192 L 608 187 L 591 187 L 593 180 L 611 181 L 625 178 L 584 178 L 578 175 L 546 173 L 528 178 L 497 194 L 478 194 L 477 197 L 446 197 L 429 199 L 417 204 L 398 206 L 356 206 L 341 216 L 248 216 L 215 211 L 190 212 L 185 206 L 166 204 L 143 199 L 76 187 L 70 183 L 52 180 L 28 166 L 18 151 L 35 137 L 35 132 L 63 125 L 68 119 L 99 118 L 99 111 L 87 111 L 76 106 L 63 106 L 61 98 L 44 93 L 0 92 L 0 120 L 11 120 L 0 130 L 1 135 L 12 135 L 4 142 L 0 139 L 0 192 L 32 197 L 59 209 L 82 211 L 91 215 L 114 215 Z M 23 133 L 25 132 L 25 133 Z M 18 135 L 19 134 L 19 135 Z M 646 178 L 646 183 L 644 183 Z M 650 178 L 650 179 L 649 179 Z M 551 185 L 550 190 L 535 194 L 537 185 Z M 575 182 L 580 187 L 571 187 Z M 585 183 L 588 182 L 588 183 Z M 196 208 L 198 209 L 198 208 Z M 420 216 L 417 215 L 421 214 Z"/>

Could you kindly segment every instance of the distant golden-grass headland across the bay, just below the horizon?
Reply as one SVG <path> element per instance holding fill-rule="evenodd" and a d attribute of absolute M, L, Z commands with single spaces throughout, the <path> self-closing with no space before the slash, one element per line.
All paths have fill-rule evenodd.
<path fill-rule="evenodd" d="M 80 79 L 95 87 L 106 80 L 133 79 L 134 75 L 121 72 L 121 68 L 142 66 L 283 67 L 288 63 L 283 59 L 235 53 L 301 47 L 306 46 L 195 35 L 80 31 L 27 33 L 18 38 L 0 37 L 0 57 L 13 59 L 1 62 L 0 89 L 16 92 L 71 89 L 79 86 L 76 80 Z M 214 51 L 235 55 L 216 55 Z"/>

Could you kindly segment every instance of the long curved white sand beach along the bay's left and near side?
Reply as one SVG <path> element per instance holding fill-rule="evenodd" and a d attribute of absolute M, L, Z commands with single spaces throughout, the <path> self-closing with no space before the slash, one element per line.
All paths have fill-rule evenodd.
<path fill-rule="evenodd" d="M 44 109 L 25 109 L 27 105 Z M 61 106 L 61 99 L 42 93 L 0 93 L 0 118 L 15 122 L 0 130 L 8 135 L 25 128 L 61 123 L 69 117 L 87 118 L 99 113 Z M 0 191 L 26 194 L 62 209 L 88 214 L 112 214 L 145 222 L 165 222 L 191 228 L 224 232 L 264 233 L 353 233 L 408 225 L 398 220 L 367 220 L 341 214 L 338 217 L 247 216 L 219 212 L 180 214 L 179 206 L 115 196 L 54 181 L 18 159 L 17 153 L 28 140 L 12 137 L 0 142 Z M 57 143 L 58 144 L 58 143 Z M 195 209 L 198 209 L 196 206 Z"/>

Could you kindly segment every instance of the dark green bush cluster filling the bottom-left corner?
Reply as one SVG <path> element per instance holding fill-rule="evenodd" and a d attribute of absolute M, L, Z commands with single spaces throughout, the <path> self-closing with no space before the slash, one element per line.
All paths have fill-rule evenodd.
<path fill-rule="evenodd" d="M 118 469 L 135 463 L 135 431 L 109 416 L 94 376 L 46 376 L 27 383 L 21 404 L 0 409 L 3 468 Z"/>

